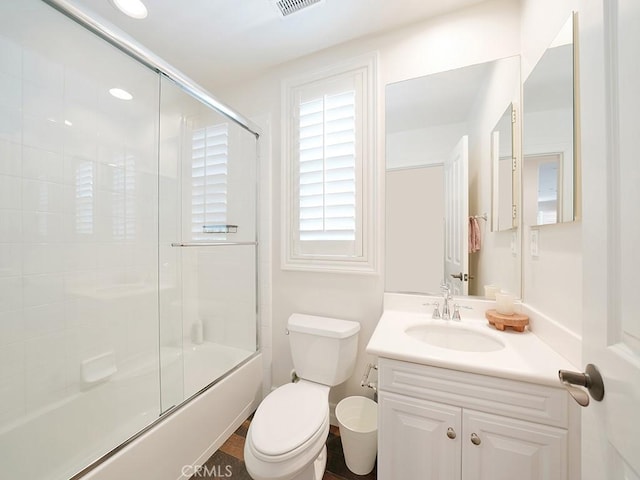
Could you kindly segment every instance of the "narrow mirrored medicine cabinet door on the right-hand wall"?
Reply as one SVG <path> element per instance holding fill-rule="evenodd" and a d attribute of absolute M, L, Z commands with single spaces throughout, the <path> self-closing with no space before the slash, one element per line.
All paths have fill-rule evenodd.
<path fill-rule="evenodd" d="M 544 52 L 523 87 L 523 221 L 576 218 L 573 16 Z"/>

